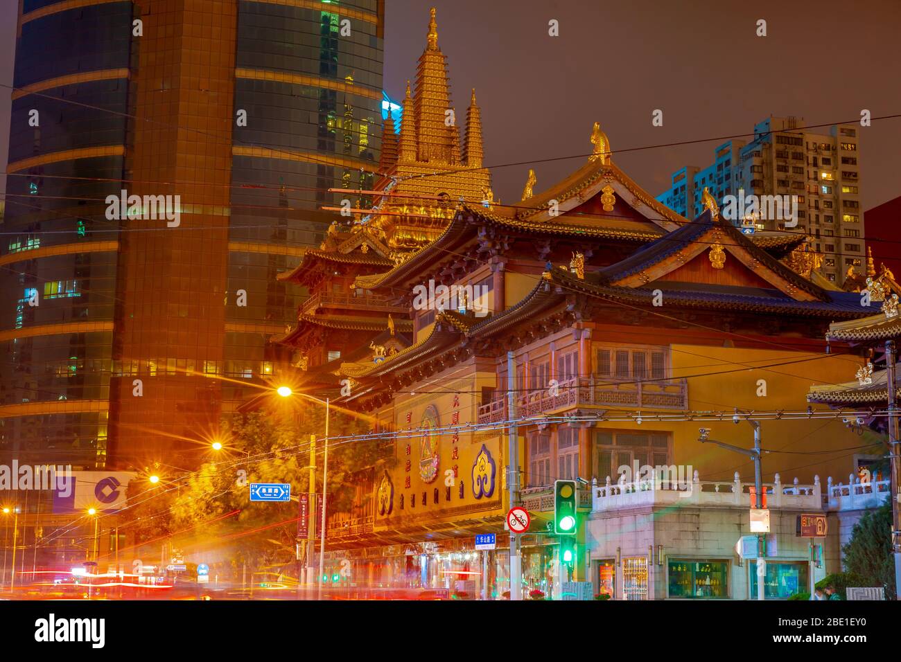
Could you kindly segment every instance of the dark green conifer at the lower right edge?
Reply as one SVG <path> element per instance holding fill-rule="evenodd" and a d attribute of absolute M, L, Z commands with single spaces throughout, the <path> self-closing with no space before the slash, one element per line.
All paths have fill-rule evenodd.
<path fill-rule="evenodd" d="M 892 504 L 883 503 L 863 514 L 851 530 L 851 540 L 842 547 L 844 567 L 860 576 L 867 586 L 882 586 L 886 598 L 895 598 L 895 562 L 892 555 Z"/>

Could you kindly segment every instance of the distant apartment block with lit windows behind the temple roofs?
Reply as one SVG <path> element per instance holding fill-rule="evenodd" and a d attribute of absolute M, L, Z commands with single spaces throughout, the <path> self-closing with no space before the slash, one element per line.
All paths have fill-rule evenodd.
<path fill-rule="evenodd" d="M 796 219 L 760 218 L 757 227 L 811 235 L 811 248 L 824 256 L 820 271 L 841 286 L 851 268 L 858 276 L 866 268 L 860 127 L 839 124 L 824 134 L 805 131 L 804 123 L 803 118 L 795 117 L 769 117 L 759 122 L 752 141 L 730 141 L 718 147 L 712 166 L 674 172 L 673 185 L 657 199 L 678 213 L 696 216 L 701 212 L 705 186 L 721 203 L 725 195 L 795 196 Z M 689 170 L 693 174 L 691 194 L 685 181 Z M 692 209 L 689 204 L 693 213 L 684 211 Z M 741 222 L 740 218 L 734 220 Z"/>

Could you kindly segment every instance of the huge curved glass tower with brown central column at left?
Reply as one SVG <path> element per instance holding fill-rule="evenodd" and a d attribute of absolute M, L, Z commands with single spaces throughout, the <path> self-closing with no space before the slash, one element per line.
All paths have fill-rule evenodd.
<path fill-rule="evenodd" d="M 383 0 L 23 0 L 2 458 L 199 460 L 278 371 L 299 293 L 276 275 L 323 239 L 328 188 L 377 177 L 383 22 Z"/>

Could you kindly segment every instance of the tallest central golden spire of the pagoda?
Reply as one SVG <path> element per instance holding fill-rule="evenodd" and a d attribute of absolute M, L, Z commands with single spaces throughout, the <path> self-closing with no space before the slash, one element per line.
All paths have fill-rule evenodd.
<path fill-rule="evenodd" d="M 429 43 L 419 58 L 413 103 L 416 113 L 418 161 L 450 165 L 454 145 L 460 149 L 460 134 L 456 119 L 447 122 L 451 108 L 451 85 L 448 81 L 447 59 L 438 48 L 435 9 L 429 21 Z"/>

